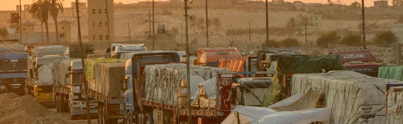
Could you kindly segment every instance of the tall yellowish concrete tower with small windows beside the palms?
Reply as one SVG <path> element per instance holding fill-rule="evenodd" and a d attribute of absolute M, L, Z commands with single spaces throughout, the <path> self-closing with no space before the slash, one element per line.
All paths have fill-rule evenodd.
<path fill-rule="evenodd" d="M 108 41 L 111 43 L 114 41 L 114 4 L 113 0 L 108 0 L 108 12 L 106 12 L 105 0 L 88 0 L 88 41 L 89 42 L 101 42 Z M 109 15 L 109 27 L 110 37 L 108 37 L 108 20 Z"/>

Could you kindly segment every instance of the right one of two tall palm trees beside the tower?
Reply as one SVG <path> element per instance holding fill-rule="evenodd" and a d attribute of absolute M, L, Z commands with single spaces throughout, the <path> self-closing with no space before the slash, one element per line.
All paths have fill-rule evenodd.
<path fill-rule="evenodd" d="M 59 43 L 59 26 L 57 24 L 57 17 L 59 14 L 59 10 L 60 12 L 63 12 L 63 1 L 64 0 L 52 0 L 50 2 L 50 9 L 49 9 L 49 13 L 50 16 L 53 18 L 54 21 L 54 25 L 56 28 L 56 43 Z"/>

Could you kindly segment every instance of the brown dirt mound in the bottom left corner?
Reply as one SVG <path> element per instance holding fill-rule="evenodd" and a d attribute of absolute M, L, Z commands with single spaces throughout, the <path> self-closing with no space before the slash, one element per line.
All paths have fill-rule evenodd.
<path fill-rule="evenodd" d="M 0 95 L 0 122 L 2 124 L 68 124 L 62 114 L 52 112 L 37 103 L 30 95 L 14 93 Z"/>

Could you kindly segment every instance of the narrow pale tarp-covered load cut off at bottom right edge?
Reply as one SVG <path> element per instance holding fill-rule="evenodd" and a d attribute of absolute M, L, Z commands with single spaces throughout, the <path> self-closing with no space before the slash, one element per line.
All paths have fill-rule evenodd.
<path fill-rule="evenodd" d="M 394 92 L 394 89 L 400 91 Z M 388 91 L 388 112 L 386 115 L 386 124 L 403 123 L 403 87 L 391 87 Z"/>

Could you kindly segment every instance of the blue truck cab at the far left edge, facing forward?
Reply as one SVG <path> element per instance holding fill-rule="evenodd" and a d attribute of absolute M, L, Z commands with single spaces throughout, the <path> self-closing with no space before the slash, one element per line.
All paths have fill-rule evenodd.
<path fill-rule="evenodd" d="M 27 46 L 14 42 L 0 43 L 0 94 L 25 94 Z"/>

